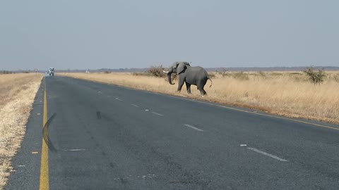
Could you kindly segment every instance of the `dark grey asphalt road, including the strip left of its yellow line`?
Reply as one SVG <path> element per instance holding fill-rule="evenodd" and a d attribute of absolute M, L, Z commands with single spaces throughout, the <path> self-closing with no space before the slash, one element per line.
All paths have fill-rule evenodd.
<path fill-rule="evenodd" d="M 45 77 L 49 189 L 339 189 L 339 127 Z M 39 189 L 43 86 L 6 189 Z M 39 151 L 39 153 L 32 153 Z"/>

